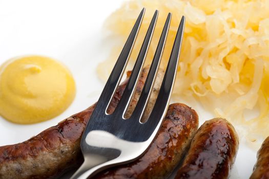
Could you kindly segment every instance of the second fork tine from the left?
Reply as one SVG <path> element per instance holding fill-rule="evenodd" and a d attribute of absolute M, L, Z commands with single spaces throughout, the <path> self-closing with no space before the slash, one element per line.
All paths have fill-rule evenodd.
<path fill-rule="evenodd" d="M 125 91 L 123 92 L 123 94 L 120 98 L 120 101 L 119 101 L 119 103 L 114 111 L 114 113 L 115 113 L 114 115 L 117 115 L 117 116 L 122 115 L 122 118 L 124 118 L 123 116 L 124 116 L 125 111 L 127 110 L 128 106 L 129 106 L 129 103 L 130 103 L 132 96 L 135 92 L 135 86 L 136 86 L 136 83 L 137 83 L 138 78 L 140 76 L 140 73 L 142 71 L 143 63 L 144 63 L 146 56 L 147 56 L 147 52 L 148 52 L 148 49 L 150 46 L 150 41 L 151 41 L 152 34 L 153 34 L 153 31 L 155 28 L 157 17 L 158 17 L 158 10 L 155 11 L 155 13 L 152 17 L 149 29 L 147 31 L 146 37 L 144 38 L 142 47 L 140 49 L 140 52 L 138 54 L 137 60 L 135 62 L 135 65 L 134 65 L 134 68 L 132 71 L 132 74 L 131 74 L 130 79 L 126 85 Z"/>

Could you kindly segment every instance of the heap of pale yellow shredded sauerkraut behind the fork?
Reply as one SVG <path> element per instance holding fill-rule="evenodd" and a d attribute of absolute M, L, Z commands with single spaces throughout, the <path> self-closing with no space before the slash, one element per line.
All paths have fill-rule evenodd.
<path fill-rule="evenodd" d="M 181 19 L 187 17 L 174 97 L 195 98 L 216 116 L 246 129 L 247 139 L 269 135 L 269 1 L 250 0 L 136 0 L 128 1 L 106 21 L 120 39 L 110 58 L 98 66 L 107 78 L 141 9 L 143 23 L 131 61 L 137 57 L 152 15 L 159 10 L 147 56 L 150 63 L 164 21 L 172 12 L 162 57 L 165 68 Z M 248 110 L 258 111 L 255 117 Z"/>

